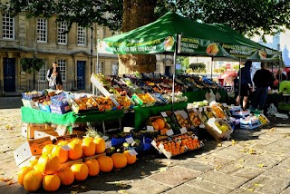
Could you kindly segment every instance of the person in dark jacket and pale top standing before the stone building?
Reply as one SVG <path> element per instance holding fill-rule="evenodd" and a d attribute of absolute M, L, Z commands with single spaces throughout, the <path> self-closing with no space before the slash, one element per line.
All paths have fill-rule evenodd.
<path fill-rule="evenodd" d="M 53 67 L 47 71 L 46 78 L 49 82 L 50 89 L 63 90 L 62 74 L 57 62 L 54 62 Z"/>

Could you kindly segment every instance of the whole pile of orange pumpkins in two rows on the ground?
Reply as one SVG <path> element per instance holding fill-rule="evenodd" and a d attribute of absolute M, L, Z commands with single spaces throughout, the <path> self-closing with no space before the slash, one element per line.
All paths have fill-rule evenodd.
<path fill-rule="evenodd" d="M 37 160 L 30 161 L 18 172 L 18 183 L 29 192 L 34 192 L 43 186 L 46 191 L 55 191 L 62 185 L 71 185 L 74 180 L 84 180 L 88 176 L 96 176 L 99 172 L 110 172 L 124 168 L 136 161 L 136 155 L 131 150 L 123 153 L 102 155 L 97 159 L 84 158 L 83 162 L 67 162 L 79 160 L 83 157 L 94 156 L 105 151 L 105 141 L 101 137 L 85 137 L 60 141 L 43 147 L 42 155 Z M 92 157 L 91 157 L 92 158 Z"/>

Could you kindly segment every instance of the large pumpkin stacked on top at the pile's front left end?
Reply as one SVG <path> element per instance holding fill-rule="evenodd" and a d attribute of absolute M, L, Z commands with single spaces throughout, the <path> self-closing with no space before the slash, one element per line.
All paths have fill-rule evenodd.
<path fill-rule="evenodd" d="M 61 162 L 57 156 L 47 155 L 41 156 L 36 166 L 43 174 L 53 174 L 60 168 Z"/>

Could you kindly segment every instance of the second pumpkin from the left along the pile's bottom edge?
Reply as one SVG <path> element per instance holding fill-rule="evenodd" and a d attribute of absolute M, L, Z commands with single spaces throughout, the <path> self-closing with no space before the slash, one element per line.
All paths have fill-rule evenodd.
<path fill-rule="evenodd" d="M 42 187 L 43 174 L 36 170 L 27 172 L 24 176 L 24 189 L 34 192 Z"/>

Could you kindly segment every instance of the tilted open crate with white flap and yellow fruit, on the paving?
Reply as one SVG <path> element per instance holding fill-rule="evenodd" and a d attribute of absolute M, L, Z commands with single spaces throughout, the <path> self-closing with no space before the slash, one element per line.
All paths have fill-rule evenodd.
<path fill-rule="evenodd" d="M 222 130 L 220 129 L 219 126 L 217 126 L 217 123 L 219 125 L 224 125 L 227 127 L 227 130 Z M 208 133 L 212 135 L 216 141 L 221 141 L 223 139 L 229 140 L 230 134 L 234 131 L 233 128 L 223 119 L 218 119 L 218 118 L 211 118 L 207 122 L 208 127 L 206 127 Z"/>

